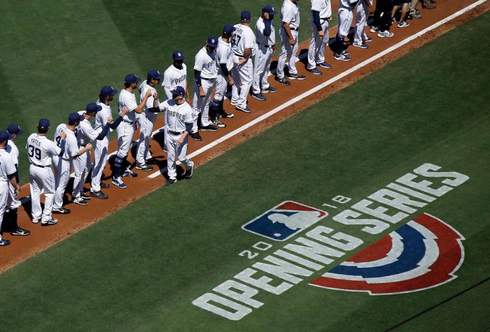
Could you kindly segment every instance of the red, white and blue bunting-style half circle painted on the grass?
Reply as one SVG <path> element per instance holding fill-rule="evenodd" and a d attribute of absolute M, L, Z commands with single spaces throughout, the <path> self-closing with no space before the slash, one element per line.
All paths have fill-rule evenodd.
<path fill-rule="evenodd" d="M 442 220 L 423 214 L 310 283 L 312 286 L 399 294 L 456 278 L 465 238 Z"/>

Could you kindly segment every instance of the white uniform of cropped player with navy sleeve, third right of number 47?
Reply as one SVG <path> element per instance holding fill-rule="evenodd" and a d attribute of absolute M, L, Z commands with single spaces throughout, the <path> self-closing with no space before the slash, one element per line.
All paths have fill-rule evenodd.
<path fill-rule="evenodd" d="M 328 45 L 328 21 L 327 18 L 332 16 L 332 6 L 330 0 L 311 0 L 311 10 L 320 12 L 320 24 L 325 36 L 320 37 L 318 28 L 311 19 L 311 41 L 308 48 L 308 65 L 307 69 L 313 69 L 316 64 L 325 62 L 325 48 Z"/>

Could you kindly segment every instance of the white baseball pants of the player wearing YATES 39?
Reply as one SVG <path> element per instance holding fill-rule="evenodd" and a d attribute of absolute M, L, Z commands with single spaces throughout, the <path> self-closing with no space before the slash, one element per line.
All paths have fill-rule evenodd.
<path fill-rule="evenodd" d="M 54 175 L 51 167 L 29 168 L 31 184 L 31 204 L 33 220 L 50 221 L 54 199 Z M 44 189 L 44 210 L 41 210 L 41 190 Z"/>

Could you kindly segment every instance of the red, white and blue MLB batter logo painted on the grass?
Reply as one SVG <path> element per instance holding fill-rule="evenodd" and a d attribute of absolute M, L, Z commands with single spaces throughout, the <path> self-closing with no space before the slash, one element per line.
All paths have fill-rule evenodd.
<path fill-rule="evenodd" d="M 328 216 L 325 211 L 285 201 L 249 221 L 242 229 L 276 241 L 285 241 Z"/>

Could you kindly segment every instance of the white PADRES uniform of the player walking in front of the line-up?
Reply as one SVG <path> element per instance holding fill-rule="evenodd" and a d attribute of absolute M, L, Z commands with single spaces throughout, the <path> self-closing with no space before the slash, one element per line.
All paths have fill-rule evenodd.
<path fill-rule="evenodd" d="M 182 144 L 177 144 L 185 132 L 185 124 L 193 122 L 193 110 L 186 101 L 177 105 L 174 100 L 168 99 L 160 103 L 160 109 L 165 112 L 165 123 L 167 124 L 167 134 L 165 135 L 165 144 L 167 146 L 167 171 L 168 177 L 177 178 L 175 157 L 184 165 L 186 170 L 192 168 L 192 163 L 187 159 L 187 140 L 186 136 Z"/>

